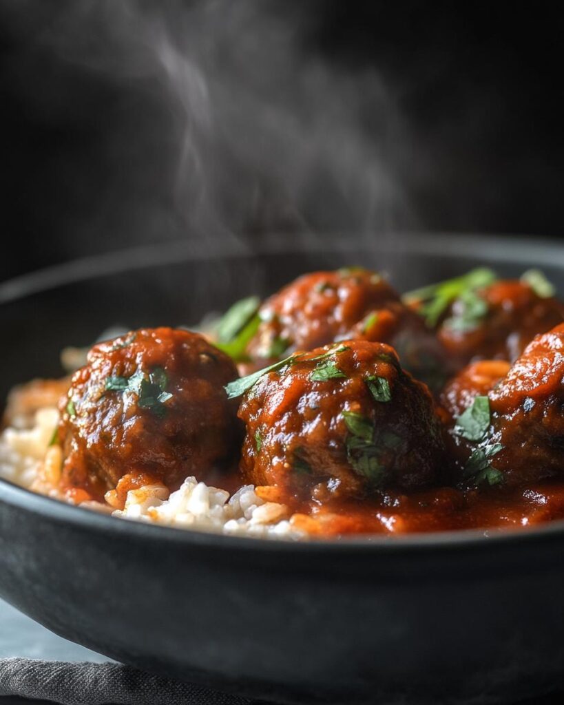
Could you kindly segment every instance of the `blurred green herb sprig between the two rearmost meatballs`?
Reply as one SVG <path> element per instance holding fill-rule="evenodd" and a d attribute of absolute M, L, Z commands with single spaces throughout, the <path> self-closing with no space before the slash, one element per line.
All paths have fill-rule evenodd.
<path fill-rule="evenodd" d="M 410 291 L 403 295 L 402 300 L 407 305 L 419 305 L 419 313 L 424 317 L 427 325 L 432 328 L 436 326 L 443 313 L 455 299 L 462 296 L 468 297 L 469 293 L 484 288 L 494 281 L 496 281 L 494 271 L 486 267 L 479 267 L 463 276 Z M 472 304 L 469 305 L 472 307 Z"/>

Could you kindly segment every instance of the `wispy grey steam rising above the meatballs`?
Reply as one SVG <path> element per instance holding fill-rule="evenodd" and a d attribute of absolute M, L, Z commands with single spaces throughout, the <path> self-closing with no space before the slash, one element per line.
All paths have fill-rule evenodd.
<path fill-rule="evenodd" d="M 317 4 L 75 0 L 63 8 L 40 41 L 164 111 L 154 126 L 150 115 L 138 118 L 147 122 L 143 139 L 157 140 L 166 158 L 143 159 L 135 137 L 135 166 L 111 184 L 119 207 L 128 169 L 147 171 L 157 184 L 151 197 L 123 207 L 145 214 L 152 233 L 271 245 L 415 223 L 393 174 L 405 133 L 393 94 L 374 71 L 349 72 L 305 49 Z M 116 139 L 107 149 L 122 154 Z"/>

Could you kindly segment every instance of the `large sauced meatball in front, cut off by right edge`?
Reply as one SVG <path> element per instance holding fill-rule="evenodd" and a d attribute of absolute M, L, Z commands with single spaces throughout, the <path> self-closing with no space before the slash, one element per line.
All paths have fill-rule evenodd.
<path fill-rule="evenodd" d="M 450 429 L 460 482 L 515 487 L 564 477 L 564 324 L 536 336 L 501 379 L 495 379 L 501 367 L 491 372 L 482 396 L 475 386 L 457 393 L 458 383 L 443 396 L 453 412 L 464 394 L 469 402 Z"/>

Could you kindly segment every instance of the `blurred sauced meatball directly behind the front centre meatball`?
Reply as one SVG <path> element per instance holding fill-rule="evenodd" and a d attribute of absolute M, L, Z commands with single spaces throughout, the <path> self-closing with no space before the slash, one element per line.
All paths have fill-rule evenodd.
<path fill-rule="evenodd" d="M 354 338 L 393 345 L 404 367 L 426 381 L 445 369 L 434 333 L 386 279 L 360 267 L 301 276 L 266 300 L 259 317 L 248 346 L 259 367 L 293 350 Z"/>

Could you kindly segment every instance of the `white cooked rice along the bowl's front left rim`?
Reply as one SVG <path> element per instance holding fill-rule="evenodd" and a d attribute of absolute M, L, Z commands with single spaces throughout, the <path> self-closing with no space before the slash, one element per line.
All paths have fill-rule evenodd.
<path fill-rule="evenodd" d="M 58 488 L 62 454 L 51 439 L 59 420 L 55 408 L 43 408 L 32 419 L 16 417 L 0 434 L 0 477 L 40 494 L 64 499 Z M 188 477 L 170 493 L 162 485 L 128 492 L 123 510 L 109 504 L 83 502 L 80 506 L 115 517 L 197 529 L 218 534 L 300 539 L 307 535 L 288 515 L 286 505 L 266 502 L 245 485 L 233 496 L 223 489 Z"/>

